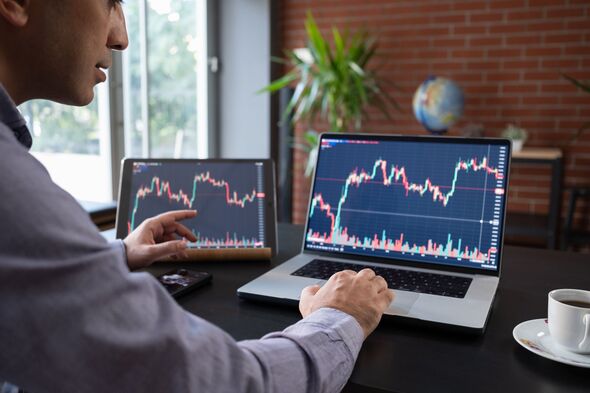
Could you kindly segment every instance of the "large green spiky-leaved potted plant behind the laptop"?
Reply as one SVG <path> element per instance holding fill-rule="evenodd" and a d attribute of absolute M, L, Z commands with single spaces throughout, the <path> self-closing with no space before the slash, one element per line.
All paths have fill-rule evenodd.
<path fill-rule="evenodd" d="M 291 70 L 273 81 L 261 92 L 276 92 L 295 84 L 295 90 L 284 113 L 283 121 L 307 121 L 308 131 L 302 143 L 295 144 L 309 153 L 305 175 L 314 168 L 318 149 L 318 132 L 312 124 L 319 118 L 331 132 L 350 128 L 360 130 L 366 109 L 378 108 L 391 119 L 389 108 L 399 110 L 397 102 L 382 88 L 387 82 L 368 68 L 377 50 L 377 41 L 364 30 L 349 34 L 332 28 L 332 42 L 320 32 L 312 14 L 305 21 L 307 46 L 286 51 L 287 59 L 273 59 L 288 64 Z M 393 85 L 393 84 L 391 84 Z M 394 85 L 393 85 L 394 86 Z M 395 87 L 395 86 L 394 86 Z"/>

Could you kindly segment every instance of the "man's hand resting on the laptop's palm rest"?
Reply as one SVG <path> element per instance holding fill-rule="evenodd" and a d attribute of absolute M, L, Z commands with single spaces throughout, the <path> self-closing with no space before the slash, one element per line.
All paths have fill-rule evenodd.
<path fill-rule="evenodd" d="M 343 270 L 324 286 L 303 288 L 299 311 L 305 318 L 322 307 L 331 307 L 352 315 L 361 325 L 365 338 L 377 327 L 385 309 L 393 300 L 387 282 L 371 269 L 356 273 Z"/>

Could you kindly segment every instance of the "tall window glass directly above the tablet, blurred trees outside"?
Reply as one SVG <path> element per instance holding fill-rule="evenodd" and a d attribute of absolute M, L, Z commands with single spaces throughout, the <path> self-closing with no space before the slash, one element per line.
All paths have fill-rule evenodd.
<path fill-rule="evenodd" d="M 195 157 L 196 0 L 130 0 L 125 8 L 126 154 Z"/>

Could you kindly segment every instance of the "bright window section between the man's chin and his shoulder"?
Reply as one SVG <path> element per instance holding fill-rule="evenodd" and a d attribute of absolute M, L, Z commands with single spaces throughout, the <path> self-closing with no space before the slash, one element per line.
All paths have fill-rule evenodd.
<path fill-rule="evenodd" d="M 96 87 L 87 107 L 35 100 L 19 109 L 33 135 L 31 153 L 56 184 L 81 200 L 113 199 L 107 85 Z"/>

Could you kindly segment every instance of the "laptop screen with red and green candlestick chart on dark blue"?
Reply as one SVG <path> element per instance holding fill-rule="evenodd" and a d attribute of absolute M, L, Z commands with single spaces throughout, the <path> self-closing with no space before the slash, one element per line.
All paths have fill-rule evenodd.
<path fill-rule="evenodd" d="M 325 134 L 304 248 L 498 270 L 510 142 Z"/>

